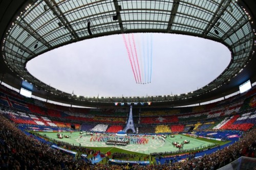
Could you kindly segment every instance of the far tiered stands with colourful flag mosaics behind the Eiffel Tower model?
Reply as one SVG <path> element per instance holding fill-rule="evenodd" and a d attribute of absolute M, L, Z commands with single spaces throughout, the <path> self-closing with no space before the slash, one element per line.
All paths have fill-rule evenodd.
<path fill-rule="evenodd" d="M 9 96 L 9 94 L 11 94 L 11 96 Z M 16 110 L 25 110 L 26 112 L 30 113 L 22 114 L 17 113 L 16 110 L 13 111 L 14 114 L 12 115 L 14 116 L 11 116 L 11 118 L 16 123 L 19 122 L 24 124 L 29 123 L 42 126 L 57 126 L 70 128 L 72 124 L 70 123 L 70 121 L 75 120 L 74 122 L 79 121 L 84 123 L 91 123 L 94 125 L 96 123 L 99 123 L 102 127 L 103 125 L 111 124 L 111 127 L 109 127 L 108 132 L 115 133 L 119 129 L 122 129 L 120 127 L 125 126 L 127 114 L 129 113 L 129 108 L 73 108 L 49 104 L 34 99 L 25 100 L 23 97 L 16 98 L 16 96 L 18 95 L 19 94 L 16 93 L 15 95 L 13 95 L 12 92 L 0 92 L 0 103 L 2 102 L 3 105 L 10 106 L 10 109 L 13 108 Z M 170 132 L 170 130 L 172 130 L 173 132 L 188 131 L 191 130 L 191 127 L 193 127 L 194 130 L 208 130 L 212 127 L 214 127 L 214 129 L 246 130 L 248 128 L 251 128 L 252 125 L 255 125 L 255 115 L 253 108 L 255 109 L 256 105 L 256 95 L 253 95 L 253 93 L 251 93 L 249 96 L 247 96 L 247 99 L 245 99 L 245 96 L 245 93 L 239 94 L 236 96 L 232 96 L 227 100 L 195 107 L 142 109 L 135 108 L 133 109 L 133 111 L 136 112 L 136 114 L 134 114 L 134 123 L 135 126 L 148 126 L 145 129 L 144 127 L 139 128 L 139 133 L 151 133 L 151 129 L 153 129 L 153 126 L 155 126 L 152 126 L 152 124 L 167 125 L 169 126 L 170 129 L 163 131 L 168 132 Z M 243 110 L 243 112 L 250 111 L 251 113 L 242 114 L 241 110 Z M 36 113 L 36 115 L 34 115 L 33 113 Z M 240 116 L 239 114 L 242 115 Z M 233 115 L 232 118 L 226 117 L 231 115 Z M 59 118 L 61 118 L 61 120 Z M 51 119 L 54 119 L 55 121 L 51 122 Z M 220 119 L 223 120 L 221 121 Z M 63 123 L 63 120 L 66 120 L 65 122 L 69 123 Z M 212 122 L 212 120 L 214 120 L 215 122 Z M 177 123 L 180 122 L 182 122 L 183 125 L 177 125 Z M 118 126 L 114 126 L 113 124 L 118 124 Z M 77 124 L 76 129 L 79 129 L 79 126 L 80 125 Z M 96 128 L 97 130 L 97 126 L 90 127 L 90 129 L 94 128 Z M 89 131 L 90 129 L 87 129 L 87 131 Z"/>

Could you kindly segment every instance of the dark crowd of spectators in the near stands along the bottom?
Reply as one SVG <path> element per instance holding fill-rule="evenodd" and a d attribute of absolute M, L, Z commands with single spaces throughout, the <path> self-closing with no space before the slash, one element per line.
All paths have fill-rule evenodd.
<path fill-rule="evenodd" d="M 47 144 L 25 135 L 10 120 L 0 114 L 0 167 L 1 169 L 124 169 L 118 165 L 91 165 L 80 159 L 51 149 Z M 74 149 L 67 143 L 66 148 Z M 76 146 L 77 147 L 77 146 Z M 81 147 L 80 147 L 81 148 Z M 87 149 L 86 149 L 87 150 Z M 85 150 L 85 152 L 86 152 Z M 217 169 L 240 156 L 254 157 L 256 129 L 246 132 L 236 143 L 202 158 L 163 165 L 135 166 L 133 169 Z"/>

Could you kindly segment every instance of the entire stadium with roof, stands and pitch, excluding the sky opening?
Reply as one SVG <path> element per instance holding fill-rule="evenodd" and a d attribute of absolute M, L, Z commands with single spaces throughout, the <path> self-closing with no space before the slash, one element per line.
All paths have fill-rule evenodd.
<path fill-rule="evenodd" d="M 254 1 L 0 4 L 1 169 L 256 166 Z M 133 33 L 213 40 L 228 48 L 230 63 L 195 91 L 108 98 L 63 92 L 27 70 L 31 59 L 55 48 Z M 242 91 L 245 85 L 249 87 Z M 222 100 L 209 102 L 218 99 Z"/>

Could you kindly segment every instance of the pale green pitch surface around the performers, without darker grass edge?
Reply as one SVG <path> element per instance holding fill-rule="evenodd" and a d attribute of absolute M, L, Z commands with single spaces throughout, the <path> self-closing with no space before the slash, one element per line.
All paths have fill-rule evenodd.
<path fill-rule="evenodd" d="M 70 138 L 62 138 L 59 139 L 57 138 L 57 133 L 54 132 L 39 132 L 40 135 L 46 135 L 49 138 L 55 139 L 55 140 L 59 140 L 59 141 L 63 141 L 63 142 L 68 142 L 74 145 L 79 145 L 81 144 L 81 146 L 83 147 L 88 147 L 88 148 L 97 148 L 100 147 L 101 151 L 102 148 L 105 148 L 105 152 L 107 151 L 114 151 L 116 149 L 114 148 L 119 148 L 122 150 L 126 150 L 126 151 L 132 151 L 132 152 L 137 152 L 137 153 L 141 153 L 141 154 L 150 154 L 150 153 L 154 153 L 154 152 L 169 152 L 169 151 L 178 151 L 179 149 L 174 147 L 174 145 L 172 144 L 172 142 L 179 142 L 181 143 L 184 140 L 189 140 L 190 142 L 187 144 L 183 145 L 183 150 L 184 149 L 201 149 L 204 147 L 208 147 L 208 145 L 212 145 L 214 143 L 219 143 L 219 141 L 215 141 L 215 140 L 200 140 L 199 138 L 191 138 L 185 135 L 175 135 L 174 138 L 172 137 L 167 137 L 165 139 L 165 142 L 163 140 L 160 139 L 156 139 L 155 137 L 153 138 L 153 136 L 148 136 L 148 142 L 145 144 L 128 144 L 126 146 L 112 146 L 112 145 L 106 145 L 105 142 L 98 142 L 98 141 L 90 141 L 91 136 L 83 136 L 80 137 L 81 135 L 79 134 L 79 132 L 73 132 L 72 134 L 70 134 L 70 132 L 60 132 L 63 135 L 69 135 Z M 95 149 L 96 149 L 95 148 Z M 102 151 L 104 152 L 104 151 Z M 119 151 L 120 152 L 120 151 Z"/>

